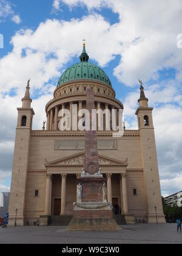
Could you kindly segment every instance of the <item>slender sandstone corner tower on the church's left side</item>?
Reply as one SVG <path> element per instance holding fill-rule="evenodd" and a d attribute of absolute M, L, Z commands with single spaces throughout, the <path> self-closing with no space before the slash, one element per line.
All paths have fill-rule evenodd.
<path fill-rule="evenodd" d="M 24 225 L 25 191 L 27 184 L 27 168 L 29 163 L 30 133 L 32 130 L 33 108 L 30 98 L 30 80 L 27 82 L 25 96 L 22 98 L 22 107 L 18 110 L 16 127 L 15 151 L 13 157 L 12 184 L 10 191 L 9 213 L 10 225 L 15 223 L 17 211 L 17 224 Z"/>

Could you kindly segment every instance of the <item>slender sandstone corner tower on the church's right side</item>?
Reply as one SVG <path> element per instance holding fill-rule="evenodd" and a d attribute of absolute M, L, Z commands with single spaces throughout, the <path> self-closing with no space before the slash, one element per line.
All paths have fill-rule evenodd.
<path fill-rule="evenodd" d="M 140 99 L 136 110 L 138 129 L 141 138 L 141 157 L 143 161 L 144 185 L 146 189 L 147 221 L 149 223 L 165 223 L 163 205 L 161 201 L 160 177 L 158 171 L 157 149 L 153 127 L 152 107 L 148 105 L 148 99 L 144 93 L 144 87 L 139 80 Z M 157 219 L 156 211 L 157 210 Z"/>

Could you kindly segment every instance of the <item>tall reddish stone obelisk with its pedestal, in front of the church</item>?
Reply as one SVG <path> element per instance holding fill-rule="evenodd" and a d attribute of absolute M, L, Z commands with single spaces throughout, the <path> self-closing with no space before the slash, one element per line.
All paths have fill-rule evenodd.
<path fill-rule="evenodd" d="M 113 219 L 112 203 L 107 202 L 107 178 L 101 174 L 98 162 L 96 131 L 92 130 L 92 109 L 95 109 L 94 93 L 87 89 L 87 110 L 90 123 L 86 121 L 84 166 L 78 185 L 78 202 L 73 203 L 73 219 L 67 230 L 117 230 Z"/>

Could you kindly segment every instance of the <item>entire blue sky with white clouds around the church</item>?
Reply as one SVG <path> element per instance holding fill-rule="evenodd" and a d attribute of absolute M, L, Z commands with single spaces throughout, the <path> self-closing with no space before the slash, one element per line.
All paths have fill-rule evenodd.
<path fill-rule="evenodd" d="M 10 188 L 16 107 L 27 79 L 32 78 L 33 128 L 41 129 L 44 106 L 64 69 L 78 62 L 83 38 L 90 62 L 106 71 L 124 104 L 127 129 L 137 129 L 138 78 L 143 79 L 154 107 L 162 193 L 181 191 L 181 10 L 178 0 L 0 0 L 0 191 Z"/>

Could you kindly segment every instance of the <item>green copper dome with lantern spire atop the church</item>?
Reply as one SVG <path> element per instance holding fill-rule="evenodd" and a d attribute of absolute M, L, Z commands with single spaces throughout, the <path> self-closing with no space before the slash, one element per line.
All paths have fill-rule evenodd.
<path fill-rule="evenodd" d="M 98 80 L 103 82 L 104 84 L 112 87 L 109 77 L 103 71 L 103 69 L 99 68 L 93 63 L 88 62 L 89 55 L 86 53 L 85 44 L 83 47 L 83 52 L 79 56 L 80 62 L 76 63 L 70 68 L 68 68 L 59 79 L 58 87 L 66 82 L 71 82 L 73 80 L 82 80 L 82 79 L 90 79 L 90 80 Z"/>

